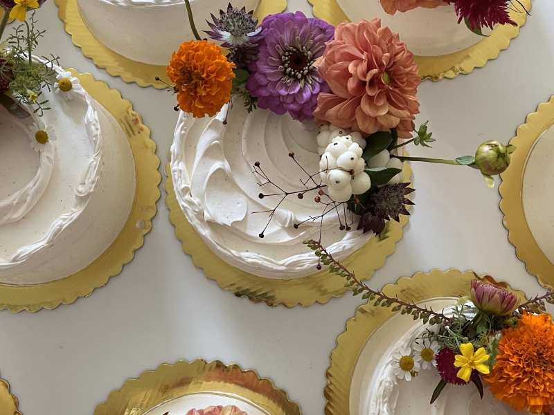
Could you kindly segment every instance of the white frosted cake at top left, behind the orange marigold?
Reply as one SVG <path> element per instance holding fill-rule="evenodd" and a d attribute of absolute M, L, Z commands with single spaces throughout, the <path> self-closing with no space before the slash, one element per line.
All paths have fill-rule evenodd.
<path fill-rule="evenodd" d="M 184 0 L 77 0 L 84 22 L 93 35 L 110 50 L 136 62 L 167 65 L 183 42 L 194 40 Z M 247 11 L 260 0 L 233 1 L 233 7 Z M 229 0 L 190 0 L 200 37 L 209 30 L 210 14 L 219 16 Z M 163 75 L 163 74 L 161 74 Z"/>

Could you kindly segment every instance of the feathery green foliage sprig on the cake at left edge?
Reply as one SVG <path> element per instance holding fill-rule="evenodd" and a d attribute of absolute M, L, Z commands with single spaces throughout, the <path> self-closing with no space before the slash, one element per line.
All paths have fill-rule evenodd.
<path fill-rule="evenodd" d="M 51 90 L 52 77 L 55 74 L 54 64 L 59 64 L 59 57 L 51 55 L 50 58 L 42 57 L 44 61 L 33 62 L 33 50 L 38 45 L 38 39 L 44 35 L 45 30 L 35 28 L 35 12 L 28 21 L 14 28 L 14 32 L 7 39 L 8 52 L 6 59 L 1 62 L 0 75 L 10 80 L 11 95 L 17 104 L 35 106 L 33 113 L 39 116 L 50 109 L 46 104 L 48 100 L 40 100 L 42 89 Z M 9 74 L 12 77 L 9 77 Z"/>

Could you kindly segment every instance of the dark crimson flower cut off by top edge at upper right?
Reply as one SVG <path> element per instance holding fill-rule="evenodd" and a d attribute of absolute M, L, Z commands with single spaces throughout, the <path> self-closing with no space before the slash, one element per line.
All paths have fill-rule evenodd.
<path fill-rule="evenodd" d="M 508 12 L 510 0 L 449 0 L 447 3 L 454 4 L 460 17 L 458 23 L 465 18 L 473 29 L 483 26 L 492 29 L 495 24 L 517 26 Z"/>

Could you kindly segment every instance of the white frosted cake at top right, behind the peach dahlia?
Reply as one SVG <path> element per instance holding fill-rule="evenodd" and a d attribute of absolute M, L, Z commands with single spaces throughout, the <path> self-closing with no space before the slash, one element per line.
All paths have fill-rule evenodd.
<path fill-rule="evenodd" d="M 381 19 L 414 55 L 438 56 L 455 53 L 480 42 L 483 37 L 472 33 L 463 23 L 458 24 L 454 5 L 437 8 L 414 8 L 388 15 L 380 0 L 337 0 L 350 21 Z M 483 33 L 490 30 L 483 28 Z"/>

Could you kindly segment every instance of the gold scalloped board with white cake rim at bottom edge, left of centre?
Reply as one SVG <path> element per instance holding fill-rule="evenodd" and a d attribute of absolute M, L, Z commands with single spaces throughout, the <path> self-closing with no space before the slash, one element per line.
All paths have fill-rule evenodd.
<path fill-rule="evenodd" d="M 204 406 L 196 406 L 200 404 Z M 111 392 L 108 400 L 96 407 L 94 415 L 185 414 L 193 407 L 211 405 L 236 405 L 249 414 L 243 408 L 263 415 L 300 415 L 298 404 L 271 380 L 238 365 L 201 359 L 161 365 L 138 379 L 127 380 L 123 389 Z"/>

